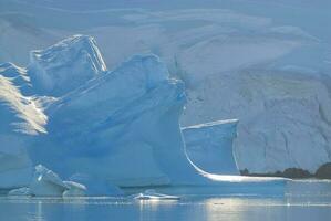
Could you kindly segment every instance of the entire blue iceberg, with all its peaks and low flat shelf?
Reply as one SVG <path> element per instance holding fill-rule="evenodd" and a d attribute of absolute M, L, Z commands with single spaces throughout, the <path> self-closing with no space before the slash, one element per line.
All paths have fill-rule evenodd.
<path fill-rule="evenodd" d="M 238 176 L 237 120 L 180 128 L 185 85 L 153 54 L 108 71 L 94 39 L 74 35 L 32 51 L 27 67 L 1 64 L 0 92 L 0 188 L 11 196 L 282 196 L 290 182 Z"/>

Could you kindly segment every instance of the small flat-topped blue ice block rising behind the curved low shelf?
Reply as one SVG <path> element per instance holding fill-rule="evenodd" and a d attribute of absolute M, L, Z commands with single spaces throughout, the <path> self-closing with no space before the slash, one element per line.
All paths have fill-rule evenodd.
<path fill-rule="evenodd" d="M 231 119 L 182 128 L 188 158 L 206 172 L 239 175 L 232 150 L 237 124 Z"/>

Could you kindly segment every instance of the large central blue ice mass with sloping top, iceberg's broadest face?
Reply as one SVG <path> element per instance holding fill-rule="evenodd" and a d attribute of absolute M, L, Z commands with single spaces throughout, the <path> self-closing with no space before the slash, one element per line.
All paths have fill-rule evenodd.
<path fill-rule="evenodd" d="M 64 177 L 89 173 L 121 187 L 180 181 L 178 168 L 195 173 L 178 124 L 184 104 L 184 85 L 165 64 L 137 55 L 54 102 L 49 134 L 30 155 Z"/>

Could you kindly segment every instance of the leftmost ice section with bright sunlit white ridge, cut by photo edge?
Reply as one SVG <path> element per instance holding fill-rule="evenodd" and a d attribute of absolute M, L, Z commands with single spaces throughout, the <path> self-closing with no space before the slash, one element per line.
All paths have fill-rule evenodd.
<path fill-rule="evenodd" d="M 0 65 L 0 188 L 29 182 L 32 161 L 27 144 L 31 136 L 45 133 L 48 117 L 39 102 L 22 94 L 30 90 L 23 69 L 10 63 Z"/>

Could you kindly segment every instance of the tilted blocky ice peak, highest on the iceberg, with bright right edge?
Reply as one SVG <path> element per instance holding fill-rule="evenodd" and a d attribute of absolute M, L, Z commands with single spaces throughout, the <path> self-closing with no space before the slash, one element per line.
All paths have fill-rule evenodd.
<path fill-rule="evenodd" d="M 29 72 L 39 94 L 61 96 L 106 70 L 95 41 L 74 35 L 30 53 Z"/>

